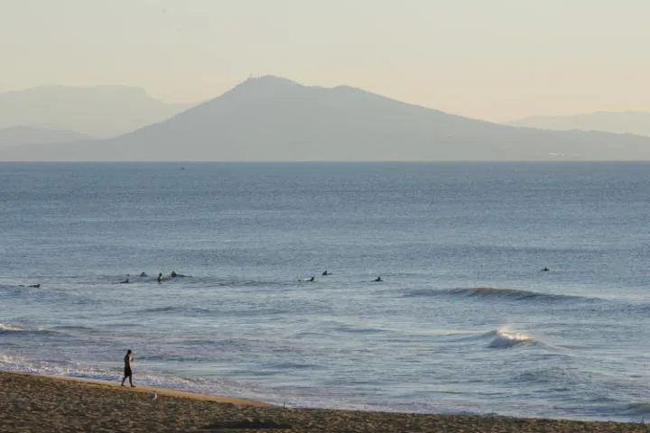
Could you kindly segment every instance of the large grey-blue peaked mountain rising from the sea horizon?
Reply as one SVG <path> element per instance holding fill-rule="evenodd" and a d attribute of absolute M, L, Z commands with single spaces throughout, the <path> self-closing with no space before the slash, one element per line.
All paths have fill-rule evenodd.
<path fill-rule="evenodd" d="M 250 78 L 159 124 L 97 142 L 5 149 L 5 161 L 650 160 L 650 138 L 491 124 L 357 88 Z"/>

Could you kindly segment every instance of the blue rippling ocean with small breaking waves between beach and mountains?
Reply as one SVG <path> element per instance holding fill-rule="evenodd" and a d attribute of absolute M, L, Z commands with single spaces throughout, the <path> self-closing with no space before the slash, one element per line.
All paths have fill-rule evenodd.
<path fill-rule="evenodd" d="M 0 163 L 0 370 L 640 420 L 649 223 L 646 162 Z"/>

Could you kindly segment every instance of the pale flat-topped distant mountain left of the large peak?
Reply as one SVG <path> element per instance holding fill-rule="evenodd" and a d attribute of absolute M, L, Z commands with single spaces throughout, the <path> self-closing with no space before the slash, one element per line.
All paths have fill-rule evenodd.
<path fill-rule="evenodd" d="M 105 138 L 161 122 L 189 107 L 165 104 L 142 88 L 43 86 L 0 94 L 0 128 L 28 125 Z"/>

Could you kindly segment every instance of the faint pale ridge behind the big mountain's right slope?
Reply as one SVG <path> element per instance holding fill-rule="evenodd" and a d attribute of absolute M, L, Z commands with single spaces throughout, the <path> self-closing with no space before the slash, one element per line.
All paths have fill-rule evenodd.
<path fill-rule="evenodd" d="M 604 131 L 616 134 L 650 136 L 650 113 L 628 111 L 608 113 L 600 111 L 584 115 L 534 115 L 510 122 L 514 126 L 552 129 L 556 131 Z"/>

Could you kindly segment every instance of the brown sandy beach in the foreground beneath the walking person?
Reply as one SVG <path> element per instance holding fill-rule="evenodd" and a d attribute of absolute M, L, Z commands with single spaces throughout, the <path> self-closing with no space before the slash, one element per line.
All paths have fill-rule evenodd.
<path fill-rule="evenodd" d="M 151 400 L 153 392 L 158 398 Z M 119 383 L 0 372 L 0 432 L 650 432 L 640 423 L 283 409 Z"/>

